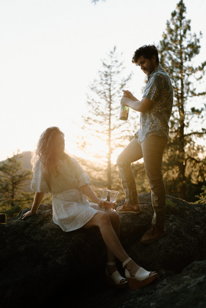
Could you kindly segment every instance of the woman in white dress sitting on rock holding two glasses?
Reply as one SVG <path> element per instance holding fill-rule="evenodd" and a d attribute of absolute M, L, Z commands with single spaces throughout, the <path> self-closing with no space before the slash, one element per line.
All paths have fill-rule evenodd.
<path fill-rule="evenodd" d="M 109 285 L 132 290 L 146 286 L 158 278 L 137 265 L 125 252 L 119 237 L 120 219 L 113 204 L 100 200 L 90 187 L 90 178 L 79 162 L 65 153 L 64 133 L 58 127 L 47 128 L 40 136 L 32 158 L 34 176 L 31 188 L 35 191 L 32 209 L 23 214 L 23 220 L 36 214 L 44 197 L 53 197 L 53 221 L 63 231 L 88 229 L 98 226 L 107 247 L 106 275 Z M 86 200 L 86 196 L 94 203 Z M 99 206 L 99 207 L 98 207 Z M 116 269 L 116 257 L 125 267 L 126 278 Z"/>

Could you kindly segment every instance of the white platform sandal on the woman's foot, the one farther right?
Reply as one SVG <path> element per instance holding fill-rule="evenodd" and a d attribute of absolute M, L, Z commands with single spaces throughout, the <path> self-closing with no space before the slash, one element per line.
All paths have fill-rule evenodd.
<path fill-rule="evenodd" d="M 131 260 L 131 258 L 128 258 L 126 261 L 124 261 L 124 263 L 122 264 L 123 268 Z M 158 278 L 157 273 L 149 275 L 150 273 L 152 272 L 148 272 L 147 270 L 144 270 L 142 267 L 140 267 L 135 274 L 135 277 L 131 277 L 128 270 L 125 269 L 125 277 L 127 278 L 130 289 L 137 290 L 139 288 L 147 286 L 150 282 Z"/>

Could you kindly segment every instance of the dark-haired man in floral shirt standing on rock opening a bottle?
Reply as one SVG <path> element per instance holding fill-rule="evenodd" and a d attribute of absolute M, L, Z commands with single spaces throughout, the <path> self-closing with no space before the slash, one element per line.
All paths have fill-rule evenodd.
<path fill-rule="evenodd" d="M 154 45 L 144 45 L 137 49 L 132 63 L 140 66 L 148 80 L 141 100 L 136 99 L 130 91 L 122 90 L 124 95 L 121 105 L 140 112 L 140 129 L 117 158 L 126 201 L 117 208 L 117 212 L 141 212 L 131 163 L 143 157 L 151 188 L 154 215 L 152 226 L 141 242 L 149 244 L 166 233 L 166 192 L 162 175 L 162 156 L 169 139 L 168 122 L 172 111 L 173 88 L 169 75 L 159 64 L 158 51 Z"/>

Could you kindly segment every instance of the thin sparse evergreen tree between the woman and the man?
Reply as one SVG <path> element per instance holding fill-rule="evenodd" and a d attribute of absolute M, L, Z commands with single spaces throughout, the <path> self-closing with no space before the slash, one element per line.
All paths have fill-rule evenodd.
<path fill-rule="evenodd" d="M 124 141 L 131 139 L 129 127 L 132 121 L 132 112 L 129 113 L 129 120 L 119 120 L 120 99 L 122 89 L 131 79 L 131 75 L 124 76 L 123 61 L 120 60 L 116 52 L 116 47 L 102 60 L 102 70 L 98 72 L 98 79 L 95 79 L 90 85 L 90 94 L 87 95 L 87 111 L 83 115 L 84 139 L 83 147 L 88 152 L 89 139 L 92 137 L 93 143 L 102 140 L 105 144 L 104 152 L 99 154 L 101 159 L 106 163 L 106 170 L 99 174 L 105 179 L 104 171 L 107 172 L 105 185 L 111 189 L 111 155 L 113 150 L 119 146 L 125 146 Z M 119 142 L 121 140 L 121 142 Z M 98 153 L 98 146 L 96 152 Z M 98 155 L 96 153 L 96 156 Z M 95 155 L 93 152 L 92 155 Z"/>

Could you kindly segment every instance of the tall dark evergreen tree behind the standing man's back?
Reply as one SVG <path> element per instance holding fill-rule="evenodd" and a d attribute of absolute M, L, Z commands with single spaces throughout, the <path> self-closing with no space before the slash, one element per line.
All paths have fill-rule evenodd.
<path fill-rule="evenodd" d="M 205 152 L 197 140 L 204 137 L 206 131 L 206 105 L 198 100 L 206 93 L 205 89 L 201 91 L 199 87 L 206 61 L 197 67 L 193 67 L 192 62 L 200 52 L 202 33 L 199 38 L 191 34 L 191 20 L 186 20 L 185 14 L 186 7 L 183 0 L 180 0 L 176 10 L 171 13 L 170 21 L 166 23 L 166 32 L 158 46 L 160 62 L 170 75 L 174 89 L 164 174 L 167 192 L 171 195 L 177 192 L 182 199 L 186 199 L 191 181 L 194 184 L 204 182 Z"/>

